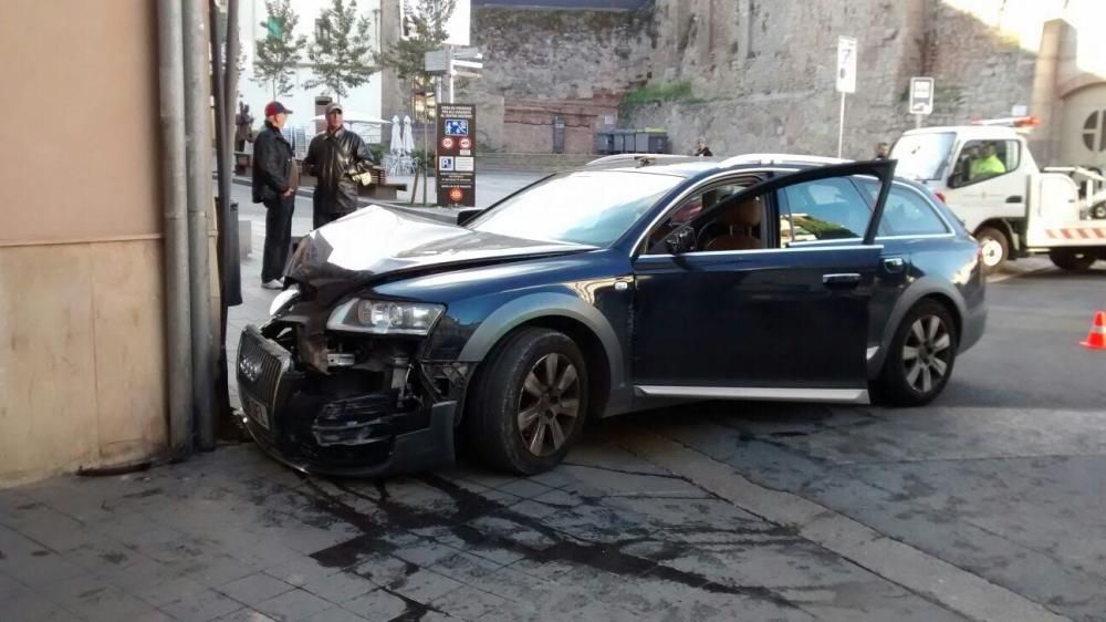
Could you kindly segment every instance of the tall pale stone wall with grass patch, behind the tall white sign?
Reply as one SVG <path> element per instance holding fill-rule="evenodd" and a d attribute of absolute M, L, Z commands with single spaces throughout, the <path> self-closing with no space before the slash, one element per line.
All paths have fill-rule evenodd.
<path fill-rule="evenodd" d="M 668 129 L 674 152 L 705 136 L 716 154 L 836 155 L 839 34 L 859 42 L 856 94 L 846 101 L 844 155 L 872 153 L 909 123 L 900 96 L 905 68 L 919 64 L 922 0 L 761 2 L 657 0 L 651 72 L 689 81 L 688 102 L 645 105 L 634 126 Z"/>

